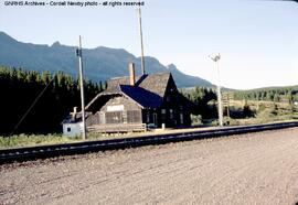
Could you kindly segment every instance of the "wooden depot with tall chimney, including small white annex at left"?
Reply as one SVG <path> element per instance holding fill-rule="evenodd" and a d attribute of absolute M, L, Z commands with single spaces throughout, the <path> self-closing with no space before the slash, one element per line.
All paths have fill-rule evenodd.
<path fill-rule="evenodd" d="M 147 128 L 191 126 L 190 101 L 177 89 L 171 73 L 111 78 L 107 88 L 86 106 L 86 127 L 95 132 L 141 131 Z M 63 121 L 63 132 L 73 134 L 81 114 L 72 112 Z"/>

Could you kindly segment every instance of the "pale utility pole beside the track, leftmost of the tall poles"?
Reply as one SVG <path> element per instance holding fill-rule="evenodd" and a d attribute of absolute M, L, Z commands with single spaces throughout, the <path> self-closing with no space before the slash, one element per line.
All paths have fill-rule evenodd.
<path fill-rule="evenodd" d="M 78 68 L 79 68 L 83 140 L 85 140 L 86 139 L 86 118 L 85 118 L 85 96 L 84 96 L 83 62 L 82 62 L 82 37 L 81 37 L 81 35 L 78 36 L 78 48 L 76 50 L 76 55 L 78 56 Z"/>

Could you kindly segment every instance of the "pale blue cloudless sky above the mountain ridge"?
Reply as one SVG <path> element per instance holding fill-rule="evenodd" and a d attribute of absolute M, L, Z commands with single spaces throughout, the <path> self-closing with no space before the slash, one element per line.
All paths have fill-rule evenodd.
<path fill-rule="evenodd" d="M 216 83 L 207 56 L 220 52 L 225 87 L 298 85 L 297 22 L 298 3 L 290 1 L 147 0 L 145 54 Z M 6 7 L 1 1 L 0 31 L 49 45 L 76 45 L 81 34 L 85 47 L 121 47 L 140 55 L 134 7 Z"/>

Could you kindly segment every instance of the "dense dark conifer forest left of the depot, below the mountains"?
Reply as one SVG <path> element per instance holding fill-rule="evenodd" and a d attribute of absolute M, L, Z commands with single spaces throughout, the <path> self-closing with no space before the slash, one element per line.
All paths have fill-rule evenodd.
<path fill-rule="evenodd" d="M 106 84 L 84 82 L 85 101 L 104 90 Z M 46 89 L 45 89 L 46 88 Z M 14 130 L 44 90 L 23 122 Z M 61 132 L 62 120 L 73 107 L 81 107 L 79 82 L 63 72 L 25 71 L 0 66 L 0 134 Z M 81 109 L 78 109 L 81 110 Z"/>

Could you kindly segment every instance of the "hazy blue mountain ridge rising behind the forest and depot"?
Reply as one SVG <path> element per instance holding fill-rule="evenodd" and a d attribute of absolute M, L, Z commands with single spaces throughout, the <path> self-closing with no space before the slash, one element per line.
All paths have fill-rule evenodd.
<path fill-rule="evenodd" d="M 52 45 L 20 42 L 0 31 L 0 65 L 22 67 L 30 71 L 62 71 L 73 76 L 77 75 L 76 46 L 63 45 L 55 41 Z M 84 75 L 95 82 L 104 82 L 113 77 L 128 75 L 128 63 L 136 64 L 136 74 L 140 75 L 140 57 L 124 48 L 97 46 L 83 48 Z M 148 74 L 171 72 L 179 88 L 213 85 L 200 77 L 187 75 L 175 65 L 162 65 L 158 58 L 145 56 Z"/>

